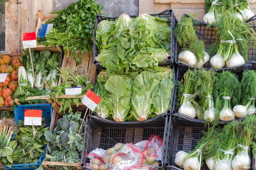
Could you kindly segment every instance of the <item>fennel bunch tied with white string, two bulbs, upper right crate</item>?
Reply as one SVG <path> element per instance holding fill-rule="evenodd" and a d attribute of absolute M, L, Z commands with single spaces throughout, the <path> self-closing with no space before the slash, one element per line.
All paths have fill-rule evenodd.
<path fill-rule="evenodd" d="M 248 44 L 254 40 L 255 31 L 233 13 L 227 11 L 219 18 L 217 36 L 220 43 L 217 54 L 210 62 L 214 68 L 235 67 L 245 64 L 248 60 Z"/>

